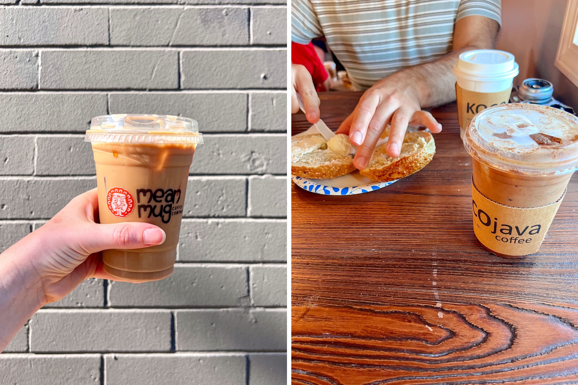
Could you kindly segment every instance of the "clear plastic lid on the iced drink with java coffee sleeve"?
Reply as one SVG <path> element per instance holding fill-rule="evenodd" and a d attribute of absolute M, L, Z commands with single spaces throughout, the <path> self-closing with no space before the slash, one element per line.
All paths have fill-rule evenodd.
<path fill-rule="evenodd" d="M 528 103 L 492 106 L 473 117 L 464 147 L 504 171 L 545 175 L 578 169 L 578 117 Z"/>

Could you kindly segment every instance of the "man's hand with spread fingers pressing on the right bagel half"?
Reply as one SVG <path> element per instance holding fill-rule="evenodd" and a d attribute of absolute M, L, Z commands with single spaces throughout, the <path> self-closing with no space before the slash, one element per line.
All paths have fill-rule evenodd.
<path fill-rule="evenodd" d="M 432 132 L 442 131 L 431 113 L 421 110 L 427 98 L 425 82 L 412 68 L 399 71 L 380 80 L 365 91 L 353 112 L 339 126 L 336 134 L 349 135 L 349 140 L 359 146 L 353 164 L 358 169 L 368 166 L 375 145 L 388 123 L 391 123 L 386 153 L 398 157 L 407 125 L 424 125 Z"/>

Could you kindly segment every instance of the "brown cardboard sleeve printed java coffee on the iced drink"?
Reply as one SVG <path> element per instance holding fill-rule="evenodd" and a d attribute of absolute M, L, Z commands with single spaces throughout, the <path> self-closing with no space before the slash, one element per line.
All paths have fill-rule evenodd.
<path fill-rule="evenodd" d="M 520 257 L 536 253 L 564 194 L 550 205 L 514 208 L 484 197 L 472 180 L 473 231 L 486 249 L 499 256 Z"/>

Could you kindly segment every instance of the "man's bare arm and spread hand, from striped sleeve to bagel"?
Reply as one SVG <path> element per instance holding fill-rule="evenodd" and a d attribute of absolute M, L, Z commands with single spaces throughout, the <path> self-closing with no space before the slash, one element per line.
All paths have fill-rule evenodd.
<path fill-rule="evenodd" d="M 454 63 L 463 51 L 491 49 L 498 34 L 497 21 L 484 16 L 466 16 L 454 25 L 453 51 L 439 60 L 412 66 L 380 80 L 361 97 L 353 113 L 343 121 L 338 134 L 349 134 L 359 146 L 354 165 L 365 168 L 377 140 L 391 123 L 387 154 L 398 157 L 407 125 L 424 125 L 432 132 L 442 126 L 421 108 L 455 99 Z"/>

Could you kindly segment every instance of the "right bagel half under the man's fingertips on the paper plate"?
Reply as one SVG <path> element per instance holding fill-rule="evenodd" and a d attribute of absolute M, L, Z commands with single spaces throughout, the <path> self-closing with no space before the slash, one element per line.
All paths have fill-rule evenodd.
<path fill-rule="evenodd" d="M 389 182 L 423 169 L 435 154 L 435 141 L 427 131 L 408 132 L 403 138 L 401 154 L 392 158 L 386 154 L 386 145 L 373 151 L 369 165 L 360 174 L 375 182 Z"/>

